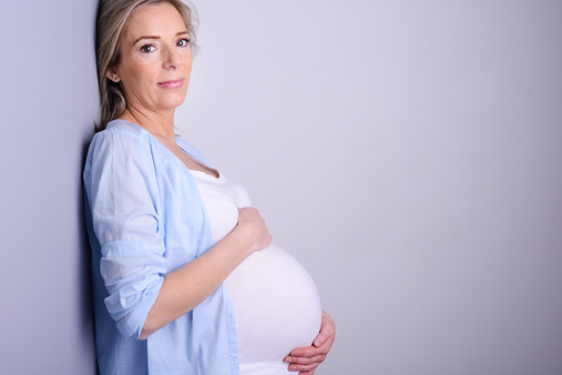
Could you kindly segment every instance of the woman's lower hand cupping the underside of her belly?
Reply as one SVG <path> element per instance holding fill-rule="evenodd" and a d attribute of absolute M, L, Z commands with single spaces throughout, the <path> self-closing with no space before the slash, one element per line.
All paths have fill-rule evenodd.
<path fill-rule="evenodd" d="M 320 333 L 315 337 L 313 345 L 294 349 L 283 362 L 289 363 L 289 371 L 298 371 L 299 375 L 313 375 L 316 367 L 326 359 L 334 339 L 336 339 L 336 323 L 323 311 Z"/>

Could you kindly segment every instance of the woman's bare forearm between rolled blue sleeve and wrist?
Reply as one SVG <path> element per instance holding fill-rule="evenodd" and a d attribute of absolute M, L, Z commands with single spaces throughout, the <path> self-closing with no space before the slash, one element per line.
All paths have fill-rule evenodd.
<path fill-rule="evenodd" d="M 251 253 L 244 235 L 233 231 L 202 256 L 166 274 L 141 339 L 201 304 Z"/>

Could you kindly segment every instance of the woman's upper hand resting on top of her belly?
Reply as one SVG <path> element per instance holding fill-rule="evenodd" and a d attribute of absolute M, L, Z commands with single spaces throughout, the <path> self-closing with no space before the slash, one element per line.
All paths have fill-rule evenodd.
<path fill-rule="evenodd" d="M 272 243 L 272 235 L 259 212 L 254 207 L 238 209 L 238 225 L 235 231 L 247 242 L 251 253 L 264 250 Z"/>

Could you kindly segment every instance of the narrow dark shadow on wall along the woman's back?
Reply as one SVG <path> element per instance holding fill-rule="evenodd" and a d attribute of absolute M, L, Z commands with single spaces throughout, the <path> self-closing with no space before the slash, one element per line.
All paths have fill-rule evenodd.
<path fill-rule="evenodd" d="M 82 171 L 84 170 L 85 156 L 88 148 L 90 146 L 91 136 L 89 136 L 82 144 L 82 160 L 80 163 L 80 199 L 78 202 L 78 220 L 80 223 L 80 244 L 81 252 L 79 256 L 79 275 L 80 275 L 80 316 L 82 317 L 82 337 L 93 337 L 94 342 L 91 343 L 95 351 L 95 331 L 93 323 L 93 290 L 92 290 L 92 249 L 88 239 L 85 226 L 86 204 L 85 191 L 82 180 Z M 95 373 L 99 375 L 98 358 L 95 358 Z"/>

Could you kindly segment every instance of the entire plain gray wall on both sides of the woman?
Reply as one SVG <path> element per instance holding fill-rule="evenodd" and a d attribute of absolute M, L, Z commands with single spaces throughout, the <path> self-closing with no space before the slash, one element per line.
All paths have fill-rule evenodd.
<path fill-rule="evenodd" d="M 96 1 L 28 3 L 0 3 L 0 372 L 91 374 Z M 178 133 L 315 278 L 318 374 L 561 374 L 562 2 L 195 3 Z"/>

